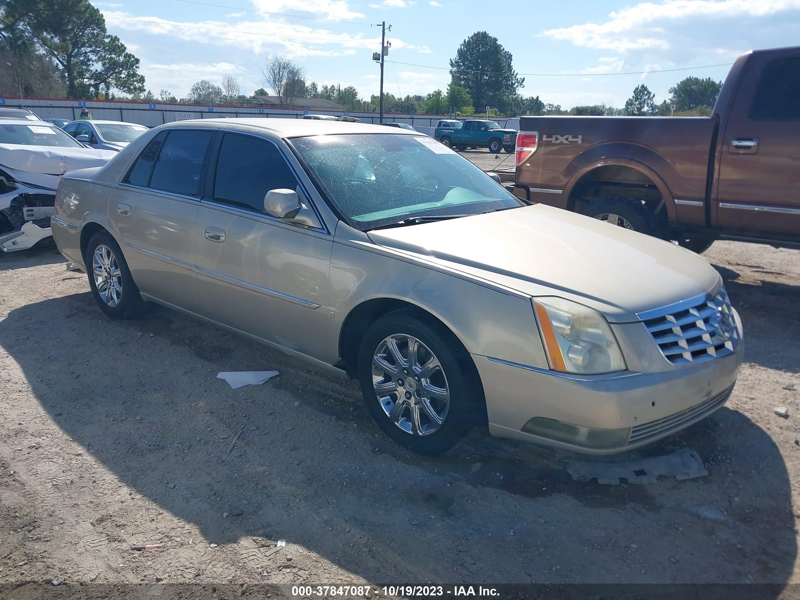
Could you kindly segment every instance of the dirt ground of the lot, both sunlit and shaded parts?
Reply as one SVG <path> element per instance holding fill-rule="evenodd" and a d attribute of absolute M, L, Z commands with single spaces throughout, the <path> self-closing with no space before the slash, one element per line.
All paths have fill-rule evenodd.
<path fill-rule="evenodd" d="M 43 597 L 37 582 L 63 598 L 756 582 L 775 598 L 800 582 L 800 251 L 705 256 L 742 315 L 745 365 L 725 407 L 637 455 L 687 447 L 709 475 L 608 486 L 484 430 L 442 458 L 410 454 L 354 382 L 170 310 L 110 321 L 53 246 L 0 255 L 0 597 Z M 216 378 L 271 369 L 238 390 Z M 163 548 L 130 550 L 147 543 Z"/>

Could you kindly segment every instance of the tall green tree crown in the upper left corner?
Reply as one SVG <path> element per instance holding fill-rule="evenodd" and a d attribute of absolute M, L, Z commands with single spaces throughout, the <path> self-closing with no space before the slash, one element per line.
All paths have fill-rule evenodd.
<path fill-rule="evenodd" d="M 139 59 L 106 32 L 99 10 L 87 0 L 6 0 L 0 4 L 0 39 L 25 38 L 54 60 L 76 98 L 112 88 L 143 93 Z"/>

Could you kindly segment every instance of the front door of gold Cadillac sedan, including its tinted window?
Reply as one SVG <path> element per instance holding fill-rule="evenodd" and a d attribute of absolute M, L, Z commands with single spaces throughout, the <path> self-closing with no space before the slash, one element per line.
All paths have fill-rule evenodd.
<path fill-rule="evenodd" d="M 310 204 L 310 182 L 298 178 L 282 147 L 258 135 L 222 137 L 194 233 L 198 290 L 214 321 L 318 356 L 330 328 L 333 239 Z M 264 196 L 278 189 L 298 191 L 314 226 L 266 214 Z"/>

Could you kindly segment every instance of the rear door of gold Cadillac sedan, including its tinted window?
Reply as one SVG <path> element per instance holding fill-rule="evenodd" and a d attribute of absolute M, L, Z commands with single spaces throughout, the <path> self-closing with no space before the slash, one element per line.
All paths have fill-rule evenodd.
<path fill-rule="evenodd" d="M 108 214 L 142 294 L 200 312 L 194 224 L 211 130 L 176 128 L 148 142 L 111 194 Z"/>

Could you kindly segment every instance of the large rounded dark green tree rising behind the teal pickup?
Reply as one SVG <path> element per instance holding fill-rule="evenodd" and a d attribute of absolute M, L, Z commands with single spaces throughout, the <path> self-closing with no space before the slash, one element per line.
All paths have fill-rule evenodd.
<path fill-rule="evenodd" d="M 452 83 L 470 94 L 478 113 L 486 110 L 486 106 L 505 110 L 509 98 L 525 82 L 525 78 L 517 76 L 511 59 L 511 53 L 497 38 L 478 31 L 462 42 L 455 58 L 450 60 Z"/>

